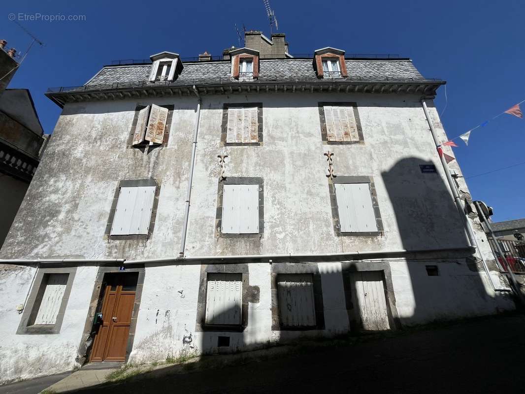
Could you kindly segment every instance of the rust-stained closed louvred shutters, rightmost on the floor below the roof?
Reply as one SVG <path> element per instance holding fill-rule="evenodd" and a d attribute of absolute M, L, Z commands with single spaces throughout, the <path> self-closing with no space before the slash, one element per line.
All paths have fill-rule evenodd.
<path fill-rule="evenodd" d="M 344 106 L 324 106 L 328 141 L 359 141 L 354 109 Z"/>

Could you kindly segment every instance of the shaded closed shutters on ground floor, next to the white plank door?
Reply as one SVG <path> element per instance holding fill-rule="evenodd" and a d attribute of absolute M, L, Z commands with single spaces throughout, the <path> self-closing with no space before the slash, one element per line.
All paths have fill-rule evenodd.
<path fill-rule="evenodd" d="M 281 325 L 315 326 L 316 310 L 311 274 L 287 274 L 277 277 Z"/>

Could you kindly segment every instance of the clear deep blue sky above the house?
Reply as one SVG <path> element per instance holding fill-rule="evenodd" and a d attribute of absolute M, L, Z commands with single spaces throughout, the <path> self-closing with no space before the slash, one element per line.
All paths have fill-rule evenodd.
<path fill-rule="evenodd" d="M 333 46 L 346 53 L 410 57 L 426 77 L 447 80 L 442 117 L 450 138 L 525 99 L 525 4 L 519 1 L 270 0 L 291 53 Z M 242 4 L 242 6 L 240 6 Z M 83 85 L 116 59 L 145 59 L 163 50 L 182 57 L 220 55 L 238 45 L 234 24 L 269 35 L 262 0 L 151 3 L 63 0 L 10 2 L 0 26 L 8 47 L 24 52 L 31 38 L 9 14 L 84 15 L 83 21 L 19 20 L 46 46 L 31 49 L 9 87 L 29 88 L 46 132 L 60 110 L 48 87 Z M 524 103 L 525 104 L 525 103 Z M 440 88 L 436 105 L 445 107 Z M 524 110 L 525 110 L 525 106 Z M 525 161 L 525 120 L 503 115 L 454 148 L 465 177 Z M 472 196 L 496 221 L 525 217 L 525 165 L 468 179 Z"/>

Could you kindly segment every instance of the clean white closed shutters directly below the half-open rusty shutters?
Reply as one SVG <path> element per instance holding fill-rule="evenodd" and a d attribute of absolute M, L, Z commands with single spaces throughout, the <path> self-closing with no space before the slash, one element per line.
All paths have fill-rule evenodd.
<path fill-rule="evenodd" d="M 155 186 L 120 188 L 111 235 L 148 234 Z"/>

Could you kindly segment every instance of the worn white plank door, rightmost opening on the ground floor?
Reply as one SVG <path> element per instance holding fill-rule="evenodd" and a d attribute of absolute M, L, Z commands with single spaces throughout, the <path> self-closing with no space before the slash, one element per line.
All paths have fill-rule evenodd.
<path fill-rule="evenodd" d="M 390 329 L 381 271 L 352 273 L 352 293 L 363 330 Z"/>

